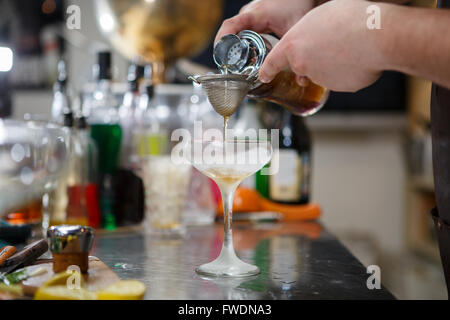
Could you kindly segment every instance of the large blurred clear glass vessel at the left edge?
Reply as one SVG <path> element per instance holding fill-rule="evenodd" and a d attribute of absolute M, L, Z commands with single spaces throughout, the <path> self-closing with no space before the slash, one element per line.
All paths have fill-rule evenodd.
<path fill-rule="evenodd" d="M 46 227 L 43 197 L 65 168 L 68 141 L 68 132 L 56 124 L 0 119 L 0 218 Z"/>

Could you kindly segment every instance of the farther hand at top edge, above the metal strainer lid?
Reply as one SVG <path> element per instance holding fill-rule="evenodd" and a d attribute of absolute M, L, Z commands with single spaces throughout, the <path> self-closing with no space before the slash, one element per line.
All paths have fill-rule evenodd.
<path fill-rule="evenodd" d="M 242 7 L 238 15 L 223 22 L 214 43 L 226 34 L 245 29 L 273 32 L 282 37 L 313 6 L 313 0 L 254 0 Z"/>

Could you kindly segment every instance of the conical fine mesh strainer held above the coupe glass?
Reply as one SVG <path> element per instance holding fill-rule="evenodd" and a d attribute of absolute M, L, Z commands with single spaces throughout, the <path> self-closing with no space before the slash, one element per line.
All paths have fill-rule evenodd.
<path fill-rule="evenodd" d="M 202 85 L 214 110 L 222 117 L 231 116 L 254 84 L 254 78 L 238 74 L 212 74 L 190 77 Z"/>

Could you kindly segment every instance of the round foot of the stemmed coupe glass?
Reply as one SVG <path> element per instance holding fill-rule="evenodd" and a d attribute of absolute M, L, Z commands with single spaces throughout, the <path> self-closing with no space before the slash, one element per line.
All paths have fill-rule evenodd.
<path fill-rule="evenodd" d="M 232 248 L 224 247 L 216 260 L 201 265 L 195 272 L 208 277 L 249 277 L 259 274 L 260 270 L 240 260 Z"/>

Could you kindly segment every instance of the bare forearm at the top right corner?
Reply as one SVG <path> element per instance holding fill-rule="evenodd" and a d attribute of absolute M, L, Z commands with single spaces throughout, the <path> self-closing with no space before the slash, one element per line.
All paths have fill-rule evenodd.
<path fill-rule="evenodd" d="M 450 88 L 450 10 L 381 5 L 377 44 L 384 69 Z"/>

